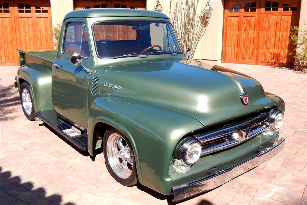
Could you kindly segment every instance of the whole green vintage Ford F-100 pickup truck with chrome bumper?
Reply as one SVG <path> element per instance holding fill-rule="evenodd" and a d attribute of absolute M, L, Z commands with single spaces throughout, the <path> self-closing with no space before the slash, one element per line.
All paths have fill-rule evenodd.
<path fill-rule="evenodd" d="M 243 73 L 186 58 L 165 14 L 72 11 L 58 51 L 18 51 L 25 116 L 91 156 L 102 148 L 125 186 L 141 183 L 177 202 L 284 146 L 284 101 Z"/>

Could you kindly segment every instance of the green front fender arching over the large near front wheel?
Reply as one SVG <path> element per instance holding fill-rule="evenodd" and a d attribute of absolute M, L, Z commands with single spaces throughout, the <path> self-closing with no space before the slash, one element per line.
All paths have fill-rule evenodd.
<path fill-rule="evenodd" d="M 98 122 L 108 124 L 130 140 L 138 179 L 162 194 L 171 194 L 173 179 L 168 174 L 178 141 L 202 124 L 185 114 L 133 99 L 101 95 L 90 107 L 88 147 L 93 155 L 93 130 Z"/>

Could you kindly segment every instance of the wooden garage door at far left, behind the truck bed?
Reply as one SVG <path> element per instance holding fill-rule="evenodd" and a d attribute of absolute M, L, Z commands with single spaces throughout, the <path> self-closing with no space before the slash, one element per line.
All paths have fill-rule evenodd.
<path fill-rule="evenodd" d="M 0 65 L 19 65 L 16 48 L 53 50 L 49 1 L 1 1 Z"/>

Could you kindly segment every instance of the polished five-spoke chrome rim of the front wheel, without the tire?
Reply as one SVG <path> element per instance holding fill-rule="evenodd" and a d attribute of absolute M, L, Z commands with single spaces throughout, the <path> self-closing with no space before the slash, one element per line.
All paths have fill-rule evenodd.
<path fill-rule="evenodd" d="M 113 133 L 107 140 L 107 157 L 117 176 L 127 179 L 131 175 L 133 159 L 128 143 L 118 133 Z"/>

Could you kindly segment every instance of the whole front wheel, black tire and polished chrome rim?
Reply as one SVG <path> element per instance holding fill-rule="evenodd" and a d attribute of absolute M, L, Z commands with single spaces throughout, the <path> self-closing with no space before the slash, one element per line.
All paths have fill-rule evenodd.
<path fill-rule="evenodd" d="M 128 138 L 117 129 L 109 129 L 103 137 L 103 155 L 111 176 L 124 186 L 138 183 L 134 153 Z"/>

